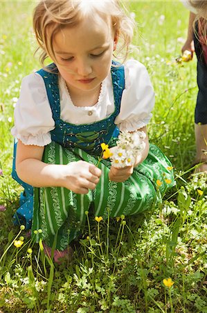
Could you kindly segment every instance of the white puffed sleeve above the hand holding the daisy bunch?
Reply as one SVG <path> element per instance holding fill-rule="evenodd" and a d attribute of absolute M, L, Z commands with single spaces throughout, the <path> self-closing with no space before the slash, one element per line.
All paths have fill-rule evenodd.
<path fill-rule="evenodd" d="M 150 121 L 153 107 L 154 90 L 145 66 L 135 60 L 127 61 L 125 90 L 115 124 L 120 131 L 140 129 Z"/>

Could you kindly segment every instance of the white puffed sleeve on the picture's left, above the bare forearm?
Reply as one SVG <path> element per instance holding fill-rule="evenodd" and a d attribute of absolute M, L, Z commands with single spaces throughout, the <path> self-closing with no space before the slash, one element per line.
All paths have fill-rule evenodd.
<path fill-rule="evenodd" d="M 24 77 L 15 106 L 15 126 L 11 133 L 25 145 L 44 146 L 51 143 L 55 128 L 44 80 L 39 74 Z"/>

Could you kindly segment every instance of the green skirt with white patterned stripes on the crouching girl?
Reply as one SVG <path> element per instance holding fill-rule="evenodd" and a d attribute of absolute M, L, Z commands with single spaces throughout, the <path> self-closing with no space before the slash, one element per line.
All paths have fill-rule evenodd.
<path fill-rule="evenodd" d="M 165 192 L 174 185 L 172 165 L 155 145 L 150 144 L 147 159 L 134 168 L 125 182 L 109 180 L 109 160 L 101 160 L 75 148 L 66 149 L 52 142 L 44 150 L 43 160 L 49 164 L 68 164 L 84 160 L 102 170 L 96 189 L 87 194 L 76 194 L 63 187 L 34 188 L 32 231 L 39 241 L 64 250 L 83 230 L 87 220 L 85 211 L 93 210 L 94 217 L 111 217 L 139 214 L 160 202 Z M 42 232 L 37 232 L 42 230 Z"/>

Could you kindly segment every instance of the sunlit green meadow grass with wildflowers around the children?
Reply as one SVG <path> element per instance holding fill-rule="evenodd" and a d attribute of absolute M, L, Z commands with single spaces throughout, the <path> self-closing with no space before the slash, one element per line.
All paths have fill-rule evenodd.
<path fill-rule="evenodd" d="M 88 216 L 72 262 L 58 266 L 41 242 L 34 245 L 11 222 L 21 191 L 10 177 L 13 109 L 21 79 L 39 68 L 33 6 L 1 1 L 0 312 L 207 312 L 207 179 L 189 171 L 196 60 L 174 62 L 188 11 L 177 1 L 132 1 L 130 7 L 140 24 L 132 56 L 145 64 L 156 92 L 150 141 L 172 161 L 177 186 L 152 212 L 105 223 Z M 15 239 L 24 239 L 23 245 L 16 248 Z M 165 287 L 164 278 L 172 278 L 173 286 Z"/>

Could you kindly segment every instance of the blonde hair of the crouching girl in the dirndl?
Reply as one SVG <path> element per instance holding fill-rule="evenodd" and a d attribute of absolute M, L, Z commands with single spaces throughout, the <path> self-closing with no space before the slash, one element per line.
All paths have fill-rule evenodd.
<path fill-rule="evenodd" d="M 53 38 L 64 27 L 78 25 L 83 18 L 98 14 L 111 17 L 112 29 L 117 33 L 121 45 L 117 54 L 123 53 L 124 61 L 132 41 L 134 21 L 127 15 L 127 10 L 119 0 L 41 0 L 33 13 L 33 29 L 42 53 L 40 63 L 50 56 L 53 61 Z"/>

